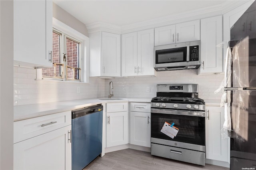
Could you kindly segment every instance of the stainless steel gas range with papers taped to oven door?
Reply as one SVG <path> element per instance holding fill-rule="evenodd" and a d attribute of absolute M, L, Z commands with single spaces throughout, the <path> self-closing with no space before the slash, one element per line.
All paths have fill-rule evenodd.
<path fill-rule="evenodd" d="M 151 154 L 205 165 L 205 103 L 197 84 L 159 84 L 151 101 Z"/>

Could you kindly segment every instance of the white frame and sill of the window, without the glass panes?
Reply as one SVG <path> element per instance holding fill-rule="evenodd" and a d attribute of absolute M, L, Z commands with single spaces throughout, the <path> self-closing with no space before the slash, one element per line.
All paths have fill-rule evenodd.
<path fill-rule="evenodd" d="M 52 18 L 52 30 L 56 31 L 58 33 L 63 33 L 61 35 L 61 46 L 60 46 L 60 59 L 63 62 L 63 51 L 65 51 L 63 48 L 63 41 L 66 41 L 66 38 L 74 40 L 75 42 L 80 43 L 80 65 L 79 67 L 81 68 L 81 76 L 80 80 L 70 80 L 66 79 L 66 69 L 64 69 L 64 77 L 63 78 L 58 78 L 58 77 L 43 77 L 42 76 L 42 69 L 37 70 L 37 79 L 46 79 L 46 80 L 55 80 L 55 81 L 65 81 L 65 82 L 82 82 L 82 83 L 89 83 L 89 38 L 85 36 L 84 34 L 74 30 L 70 26 L 64 24 L 63 22 L 60 22 L 56 18 Z M 66 48 L 66 47 L 65 47 Z M 64 67 L 66 67 L 66 64 L 64 64 Z"/>

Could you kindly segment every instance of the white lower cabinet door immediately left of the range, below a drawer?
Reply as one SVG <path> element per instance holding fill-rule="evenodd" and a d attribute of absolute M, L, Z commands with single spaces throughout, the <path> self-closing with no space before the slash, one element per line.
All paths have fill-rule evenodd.
<path fill-rule="evenodd" d="M 130 112 L 130 144 L 150 147 L 150 113 Z"/>

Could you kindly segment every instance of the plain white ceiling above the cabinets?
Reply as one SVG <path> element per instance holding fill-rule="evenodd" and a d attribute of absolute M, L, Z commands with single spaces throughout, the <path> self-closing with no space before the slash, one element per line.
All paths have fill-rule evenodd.
<path fill-rule="evenodd" d="M 189 11 L 225 7 L 234 0 L 54 0 L 84 24 L 126 26 Z"/>

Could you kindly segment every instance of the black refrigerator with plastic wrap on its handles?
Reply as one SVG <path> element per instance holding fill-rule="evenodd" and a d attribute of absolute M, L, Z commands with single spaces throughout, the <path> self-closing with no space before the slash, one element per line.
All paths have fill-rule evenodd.
<path fill-rule="evenodd" d="M 230 169 L 256 169 L 256 2 L 230 30 L 225 63 L 225 123 Z"/>

